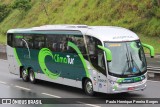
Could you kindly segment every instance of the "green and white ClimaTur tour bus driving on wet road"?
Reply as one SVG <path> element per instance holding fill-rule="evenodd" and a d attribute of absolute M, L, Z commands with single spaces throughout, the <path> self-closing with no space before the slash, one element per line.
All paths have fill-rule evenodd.
<path fill-rule="evenodd" d="M 144 90 L 147 63 L 132 31 L 114 26 L 44 25 L 7 32 L 9 71 L 23 81 L 37 79 L 94 92 Z"/>

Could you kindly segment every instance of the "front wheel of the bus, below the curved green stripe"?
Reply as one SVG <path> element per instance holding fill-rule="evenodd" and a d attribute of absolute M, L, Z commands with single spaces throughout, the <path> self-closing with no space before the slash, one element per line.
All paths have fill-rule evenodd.
<path fill-rule="evenodd" d="M 86 94 L 88 94 L 90 96 L 94 95 L 93 84 L 89 79 L 87 79 L 84 83 L 84 91 Z"/>

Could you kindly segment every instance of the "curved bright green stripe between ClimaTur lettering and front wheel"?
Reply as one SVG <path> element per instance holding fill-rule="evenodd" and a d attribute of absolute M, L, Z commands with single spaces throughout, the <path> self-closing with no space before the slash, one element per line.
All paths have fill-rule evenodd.
<path fill-rule="evenodd" d="M 86 61 L 81 53 L 81 51 L 78 49 L 78 47 L 72 43 L 72 42 L 68 42 L 68 46 L 72 47 L 78 54 L 78 56 L 80 57 L 82 63 L 83 63 L 83 66 L 84 66 L 84 69 L 85 69 L 85 72 L 86 72 L 86 76 L 89 78 L 89 71 L 88 71 L 88 68 L 87 68 L 87 64 L 86 64 Z"/>

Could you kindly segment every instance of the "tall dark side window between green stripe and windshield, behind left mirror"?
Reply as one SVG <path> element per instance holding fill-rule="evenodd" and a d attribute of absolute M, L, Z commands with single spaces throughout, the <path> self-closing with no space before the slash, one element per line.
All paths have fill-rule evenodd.
<path fill-rule="evenodd" d="M 102 43 L 97 38 L 86 36 L 86 43 L 88 48 L 88 54 L 90 58 L 91 64 L 96 68 L 99 72 L 106 75 L 106 67 L 104 60 L 104 52 L 99 49 L 97 45 L 101 45 Z"/>

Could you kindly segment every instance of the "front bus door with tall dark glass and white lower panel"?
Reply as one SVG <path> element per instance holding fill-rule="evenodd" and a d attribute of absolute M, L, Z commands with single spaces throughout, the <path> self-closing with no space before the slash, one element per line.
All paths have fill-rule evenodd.
<path fill-rule="evenodd" d="M 97 71 L 97 86 L 99 92 L 107 92 L 107 76 L 104 51 L 98 48 L 98 45 L 102 46 L 102 43 L 97 38 L 87 36 L 86 37 L 88 54 L 90 63 Z"/>

